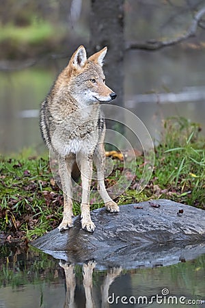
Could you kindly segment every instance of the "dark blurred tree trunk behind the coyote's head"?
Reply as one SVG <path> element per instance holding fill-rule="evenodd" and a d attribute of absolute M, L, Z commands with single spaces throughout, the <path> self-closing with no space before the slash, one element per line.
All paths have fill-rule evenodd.
<path fill-rule="evenodd" d="M 90 51 L 108 47 L 104 71 L 107 85 L 124 105 L 124 0 L 91 0 Z"/>

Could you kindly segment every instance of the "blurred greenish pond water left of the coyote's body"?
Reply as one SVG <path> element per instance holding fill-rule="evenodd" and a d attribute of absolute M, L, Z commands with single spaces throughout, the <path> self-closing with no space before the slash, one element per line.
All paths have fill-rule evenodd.
<path fill-rule="evenodd" d="M 21 151 L 29 146 L 39 149 L 42 140 L 37 114 L 23 117 L 22 112 L 39 109 L 54 78 L 52 68 L 30 68 L 0 74 L 1 153 Z"/>

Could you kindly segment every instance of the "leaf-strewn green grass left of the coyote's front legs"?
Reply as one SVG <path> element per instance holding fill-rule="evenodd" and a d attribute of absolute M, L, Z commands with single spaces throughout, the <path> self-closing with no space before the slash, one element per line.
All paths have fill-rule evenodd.
<path fill-rule="evenodd" d="M 45 202 L 44 196 L 55 190 L 50 182 L 48 160 L 1 158 L 0 170 L 1 230 L 12 235 L 20 231 L 21 238 L 24 235 L 31 238 L 55 227 L 61 217 L 62 201 L 61 195 L 57 195 L 55 206 Z M 56 196 L 55 192 L 52 196 Z"/>

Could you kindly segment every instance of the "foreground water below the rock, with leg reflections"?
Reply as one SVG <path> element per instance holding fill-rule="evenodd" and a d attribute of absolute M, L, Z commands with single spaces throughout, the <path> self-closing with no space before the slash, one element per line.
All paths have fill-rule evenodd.
<path fill-rule="evenodd" d="M 82 308 L 85 294 L 89 308 L 184 307 L 188 300 L 193 303 L 189 307 L 205 307 L 205 303 L 196 305 L 196 300 L 205 300 L 205 255 L 175 265 L 131 270 L 120 265 L 96 269 L 93 260 L 70 265 L 31 247 L 2 246 L 0 259 L 1 308 Z"/>

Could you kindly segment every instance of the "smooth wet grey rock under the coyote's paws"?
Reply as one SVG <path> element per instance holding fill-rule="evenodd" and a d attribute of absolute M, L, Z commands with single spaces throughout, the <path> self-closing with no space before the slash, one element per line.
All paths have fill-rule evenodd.
<path fill-rule="evenodd" d="M 121 205 L 120 213 L 92 211 L 94 233 L 74 227 L 58 229 L 32 242 L 36 248 L 71 263 L 94 259 L 99 268 L 157 266 L 205 253 L 205 212 L 168 200 Z"/>

